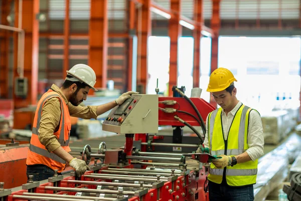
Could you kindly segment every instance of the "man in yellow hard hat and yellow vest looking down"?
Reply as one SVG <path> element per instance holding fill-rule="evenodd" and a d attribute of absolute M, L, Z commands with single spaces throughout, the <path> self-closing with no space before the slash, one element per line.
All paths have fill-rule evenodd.
<path fill-rule="evenodd" d="M 221 107 L 206 120 L 204 147 L 220 156 L 210 164 L 210 201 L 254 200 L 258 158 L 263 155 L 262 122 L 256 110 L 237 100 L 234 81 L 230 70 L 218 68 L 210 75 L 207 88 Z M 197 153 L 205 149 L 201 146 Z"/>

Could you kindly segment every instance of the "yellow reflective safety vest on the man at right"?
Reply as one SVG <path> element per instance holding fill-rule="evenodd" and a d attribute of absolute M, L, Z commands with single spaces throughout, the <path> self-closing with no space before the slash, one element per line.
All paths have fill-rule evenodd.
<path fill-rule="evenodd" d="M 212 155 L 225 154 L 236 156 L 245 152 L 247 144 L 249 114 L 252 109 L 241 105 L 234 115 L 229 129 L 227 140 L 224 139 L 222 125 L 222 108 L 209 114 L 208 117 L 208 141 Z M 245 163 L 237 163 L 233 167 L 217 168 L 210 165 L 208 180 L 221 183 L 223 174 L 230 186 L 244 186 L 256 183 L 258 159 Z"/>

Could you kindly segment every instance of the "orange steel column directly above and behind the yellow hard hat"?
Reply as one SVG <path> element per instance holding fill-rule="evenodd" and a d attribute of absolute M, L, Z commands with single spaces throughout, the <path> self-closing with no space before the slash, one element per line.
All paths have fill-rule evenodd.
<path fill-rule="evenodd" d="M 212 38 L 212 47 L 211 47 L 211 73 L 218 68 L 218 36 L 219 30 L 221 28 L 221 19 L 220 19 L 220 0 L 212 0 L 212 19 L 211 19 L 211 28 L 215 34 L 215 37 Z M 210 96 L 210 104 L 214 107 L 217 107 L 216 102 Z"/>

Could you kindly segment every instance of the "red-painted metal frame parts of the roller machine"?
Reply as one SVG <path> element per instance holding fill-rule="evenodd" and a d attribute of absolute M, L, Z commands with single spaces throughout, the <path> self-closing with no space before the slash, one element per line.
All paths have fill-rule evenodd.
<path fill-rule="evenodd" d="M 215 110 L 213 106 L 205 102 L 202 98 L 190 98 L 192 102 L 197 107 L 198 111 L 200 112 L 204 122 L 206 120 L 207 115 Z M 173 106 L 165 106 L 161 102 L 164 102 L 165 100 L 175 100 L 177 102 L 176 105 Z M 197 117 L 197 113 L 194 111 L 192 106 L 188 103 L 188 101 L 183 97 L 159 97 L 159 107 L 161 108 L 174 108 L 176 110 L 182 109 L 183 111 L 189 112 L 192 115 Z M 159 125 L 170 125 L 170 126 L 185 126 L 183 123 L 177 121 L 174 116 L 178 115 L 181 119 L 185 120 L 187 123 L 189 123 L 192 126 L 199 126 L 199 123 L 191 116 L 183 114 L 183 113 L 164 113 L 163 111 L 159 111 Z M 133 134 L 126 134 L 126 141 L 124 144 L 124 152 L 126 155 L 132 155 L 132 149 L 133 149 Z M 157 136 L 161 137 L 161 136 Z M 162 136 L 163 137 L 163 136 Z M 142 142 L 146 142 L 146 134 L 135 134 L 135 140 L 141 140 Z M 144 147 L 141 147 L 141 151 L 146 151 L 145 145 Z M 130 163 L 130 160 L 128 161 L 129 165 L 125 168 L 133 168 L 133 165 Z M 91 179 L 85 177 L 85 175 L 89 175 L 91 173 L 102 173 L 103 170 L 107 170 L 108 167 L 102 167 L 99 170 L 94 171 L 86 171 L 84 175 L 81 176 L 79 180 L 82 181 L 101 181 L 105 180 L 107 182 L 111 182 L 112 179 Z M 130 201 L 185 201 L 185 200 L 209 200 L 208 192 L 205 187 L 206 178 L 208 175 L 208 168 L 203 166 L 202 169 L 198 171 L 191 170 L 186 175 L 178 176 L 178 178 L 174 181 L 167 181 L 164 182 L 164 184 L 159 188 L 152 188 L 148 190 L 148 192 L 142 196 L 133 196 L 129 198 Z M 76 176 L 70 176 L 66 177 L 61 181 L 57 181 L 56 183 L 48 182 L 45 184 L 42 184 L 36 188 L 34 188 L 33 192 L 36 193 L 54 193 L 54 190 L 47 190 L 45 189 L 45 186 L 59 186 L 59 187 L 84 187 L 87 186 L 88 188 L 95 189 L 97 185 L 88 185 L 88 184 L 82 184 L 82 185 L 75 185 L 74 183 L 69 183 L 68 180 L 75 180 L 77 179 Z M 22 194 L 23 192 L 27 192 L 28 190 L 19 190 L 16 192 L 13 192 L 11 195 L 8 196 L 6 201 L 23 201 L 27 199 L 16 199 L 14 198 L 14 194 Z M 61 191 L 57 194 L 64 194 L 67 193 L 69 195 L 74 195 L 76 192 L 70 192 L 70 191 Z M 159 199 L 157 199 L 157 196 L 159 195 Z M 197 195 L 197 197 L 196 197 Z"/>

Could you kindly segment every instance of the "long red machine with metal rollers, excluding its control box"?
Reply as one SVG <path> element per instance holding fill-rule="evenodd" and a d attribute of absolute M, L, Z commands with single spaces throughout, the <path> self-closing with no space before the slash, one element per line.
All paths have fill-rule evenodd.
<path fill-rule="evenodd" d="M 157 111 L 158 125 L 175 128 L 172 137 L 155 133 L 124 133 L 124 147 L 107 150 L 106 144 L 102 142 L 98 153 L 92 153 L 90 145 L 86 145 L 81 152 L 82 159 L 86 164 L 94 159 L 94 165 L 81 177 L 72 172 L 71 176 L 63 178 L 55 171 L 47 183 L 40 184 L 32 181 L 33 176 L 30 176 L 29 182 L 16 192 L 1 188 L 0 183 L 0 200 L 208 201 L 208 164 L 180 152 L 169 152 L 173 152 L 171 147 L 181 147 L 184 153 L 196 151 L 204 135 L 201 136 L 193 126 L 201 126 L 204 130 L 203 119 L 215 108 L 202 98 L 187 98 L 177 87 L 174 92 L 175 97 L 159 97 Z M 142 113 L 145 116 L 145 111 Z M 111 127 L 114 131 L 116 125 L 122 125 L 122 120 L 115 120 L 115 123 L 110 123 L 114 125 Z M 184 126 L 197 134 L 198 137 L 190 136 L 193 143 L 186 141 L 188 137 L 183 135 Z M 105 130 L 110 130 L 107 128 Z M 121 127 L 118 129 L 122 132 Z M 123 129 L 127 131 L 129 127 L 124 126 Z M 98 159 L 101 163 L 97 163 Z"/>

